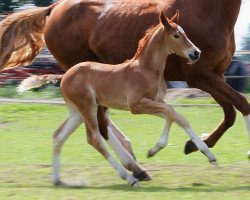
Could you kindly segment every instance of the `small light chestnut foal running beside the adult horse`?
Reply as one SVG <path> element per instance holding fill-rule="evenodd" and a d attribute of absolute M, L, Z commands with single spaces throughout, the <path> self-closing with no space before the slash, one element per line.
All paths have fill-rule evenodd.
<path fill-rule="evenodd" d="M 200 57 L 200 50 L 187 38 L 183 29 L 176 24 L 179 13 L 170 20 L 163 12 L 160 23 L 147 31 L 140 41 L 135 56 L 118 65 L 96 62 L 83 62 L 70 68 L 66 74 L 46 75 L 43 78 L 26 79 L 19 90 L 42 85 L 62 78 L 61 92 L 70 110 L 69 118 L 58 128 L 54 138 L 54 183 L 61 184 L 59 174 L 59 154 L 66 138 L 84 119 L 89 144 L 108 160 L 119 176 L 131 186 L 150 180 L 146 171 L 134 160 L 132 155 L 115 137 L 108 126 L 107 142 L 114 149 L 122 165 L 108 152 L 103 143 L 97 120 L 98 106 L 129 110 L 133 114 L 151 114 L 166 120 L 159 142 L 150 150 L 154 155 L 167 144 L 168 132 L 172 122 L 180 125 L 191 140 L 204 153 L 209 162 L 216 164 L 216 158 L 207 145 L 196 136 L 187 120 L 178 114 L 171 105 L 164 102 L 166 83 L 164 70 L 167 56 L 175 53 L 188 59 L 190 64 Z M 127 170 L 133 172 L 128 175 Z"/>

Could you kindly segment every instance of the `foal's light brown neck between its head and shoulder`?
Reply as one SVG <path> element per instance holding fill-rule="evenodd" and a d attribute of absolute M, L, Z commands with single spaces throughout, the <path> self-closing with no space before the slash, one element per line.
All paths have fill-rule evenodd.
<path fill-rule="evenodd" d="M 151 70 L 157 74 L 163 74 L 169 48 L 165 44 L 166 33 L 164 27 L 157 26 L 152 36 L 145 42 L 143 50 L 135 59 L 139 61 L 141 69 Z"/>

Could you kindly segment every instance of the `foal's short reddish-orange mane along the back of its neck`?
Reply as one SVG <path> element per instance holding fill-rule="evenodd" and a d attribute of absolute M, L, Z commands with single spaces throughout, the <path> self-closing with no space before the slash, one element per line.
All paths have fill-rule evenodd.
<path fill-rule="evenodd" d="M 135 59 L 138 58 L 142 54 L 144 48 L 148 44 L 148 41 L 150 40 L 150 38 L 152 37 L 154 32 L 158 28 L 160 28 L 161 26 L 162 26 L 162 24 L 159 23 L 158 25 L 153 26 L 146 31 L 145 36 L 139 41 L 139 45 L 138 45 L 137 51 L 136 51 L 135 56 L 134 56 Z"/>

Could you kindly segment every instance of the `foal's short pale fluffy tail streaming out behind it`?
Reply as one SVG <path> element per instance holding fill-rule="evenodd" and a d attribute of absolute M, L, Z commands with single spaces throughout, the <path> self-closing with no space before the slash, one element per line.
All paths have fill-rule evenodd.
<path fill-rule="evenodd" d="M 23 93 L 32 88 L 38 88 L 48 83 L 57 83 L 63 77 L 63 74 L 45 74 L 40 76 L 31 76 L 29 78 L 24 79 L 21 84 L 18 86 L 17 91 Z"/>

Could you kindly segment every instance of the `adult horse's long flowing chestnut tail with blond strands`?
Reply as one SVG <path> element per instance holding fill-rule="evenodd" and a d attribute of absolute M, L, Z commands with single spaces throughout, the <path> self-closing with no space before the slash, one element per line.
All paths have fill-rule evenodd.
<path fill-rule="evenodd" d="M 0 71 L 33 61 L 45 45 L 46 19 L 56 5 L 13 13 L 0 22 Z"/>

